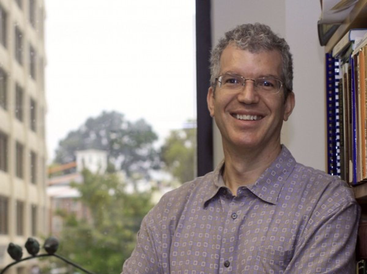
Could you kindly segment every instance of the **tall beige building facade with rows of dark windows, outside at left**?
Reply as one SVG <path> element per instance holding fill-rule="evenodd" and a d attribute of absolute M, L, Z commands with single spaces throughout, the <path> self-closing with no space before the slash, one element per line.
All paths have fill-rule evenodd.
<path fill-rule="evenodd" d="M 49 233 L 44 18 L 43 0 L 0 0 L 0 269 L 12 261 L 8 243 Z M 7 273 L 36 273 L 36 264 Z"/>

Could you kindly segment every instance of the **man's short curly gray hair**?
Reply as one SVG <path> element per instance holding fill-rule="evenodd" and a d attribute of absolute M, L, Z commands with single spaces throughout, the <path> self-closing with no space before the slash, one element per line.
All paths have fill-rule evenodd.
<path fill-rule="evenodd" d="M 243 50 L 257 53 L 262 50 L 278 50 L 281 54 L 283 65 L 281 80 L 284 83 L 284 97 L 293 90 L 293 62 L 289 46 L 283 38 L 276 35 L 269 26 L 255 23 L 243 24 L 225 33 L 218 45 L 211 51 L 210 57 L 210 85 L 215 90 L 215 78 L 220 72 L 220 58 L 223 50 L 231 43 Z"/>

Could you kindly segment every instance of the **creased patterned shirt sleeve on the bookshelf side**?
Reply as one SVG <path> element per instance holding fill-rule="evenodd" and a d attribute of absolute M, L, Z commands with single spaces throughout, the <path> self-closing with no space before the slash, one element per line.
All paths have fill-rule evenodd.
<path fill-rule="evenodd" d="M 284 274 L 355 273 L 359 216 L 355 201 L 334 210 L 316 211 Z"/>

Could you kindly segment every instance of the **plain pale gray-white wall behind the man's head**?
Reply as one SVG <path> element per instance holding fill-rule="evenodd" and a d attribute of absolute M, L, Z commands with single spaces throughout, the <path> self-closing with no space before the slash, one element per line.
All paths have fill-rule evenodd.
<path fill-rule="evenodd" d="M 293 54 L 296 104 L 290 119 L 283 124 L 281 142 L 298 162 L 325 170 L 324 48 L 317 36 L 320 2 L 212 0 L 211 8 L 213 45 L 236 25 L 254 22 L 269 25 L 287 40 Z M 215 126 L 214 166 L 222 158 L 221 136 Z"/>

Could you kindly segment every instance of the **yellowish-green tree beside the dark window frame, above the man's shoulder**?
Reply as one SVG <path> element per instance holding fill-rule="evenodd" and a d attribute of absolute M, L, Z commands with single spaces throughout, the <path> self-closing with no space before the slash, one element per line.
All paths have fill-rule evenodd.
<path fill-rule="evenodd" d="M 181 183 L 196 176 L 195 153 L 196 128 L 193 127 L 172 130 L 161 147 L 161 158 L 166 169 Z"/>

